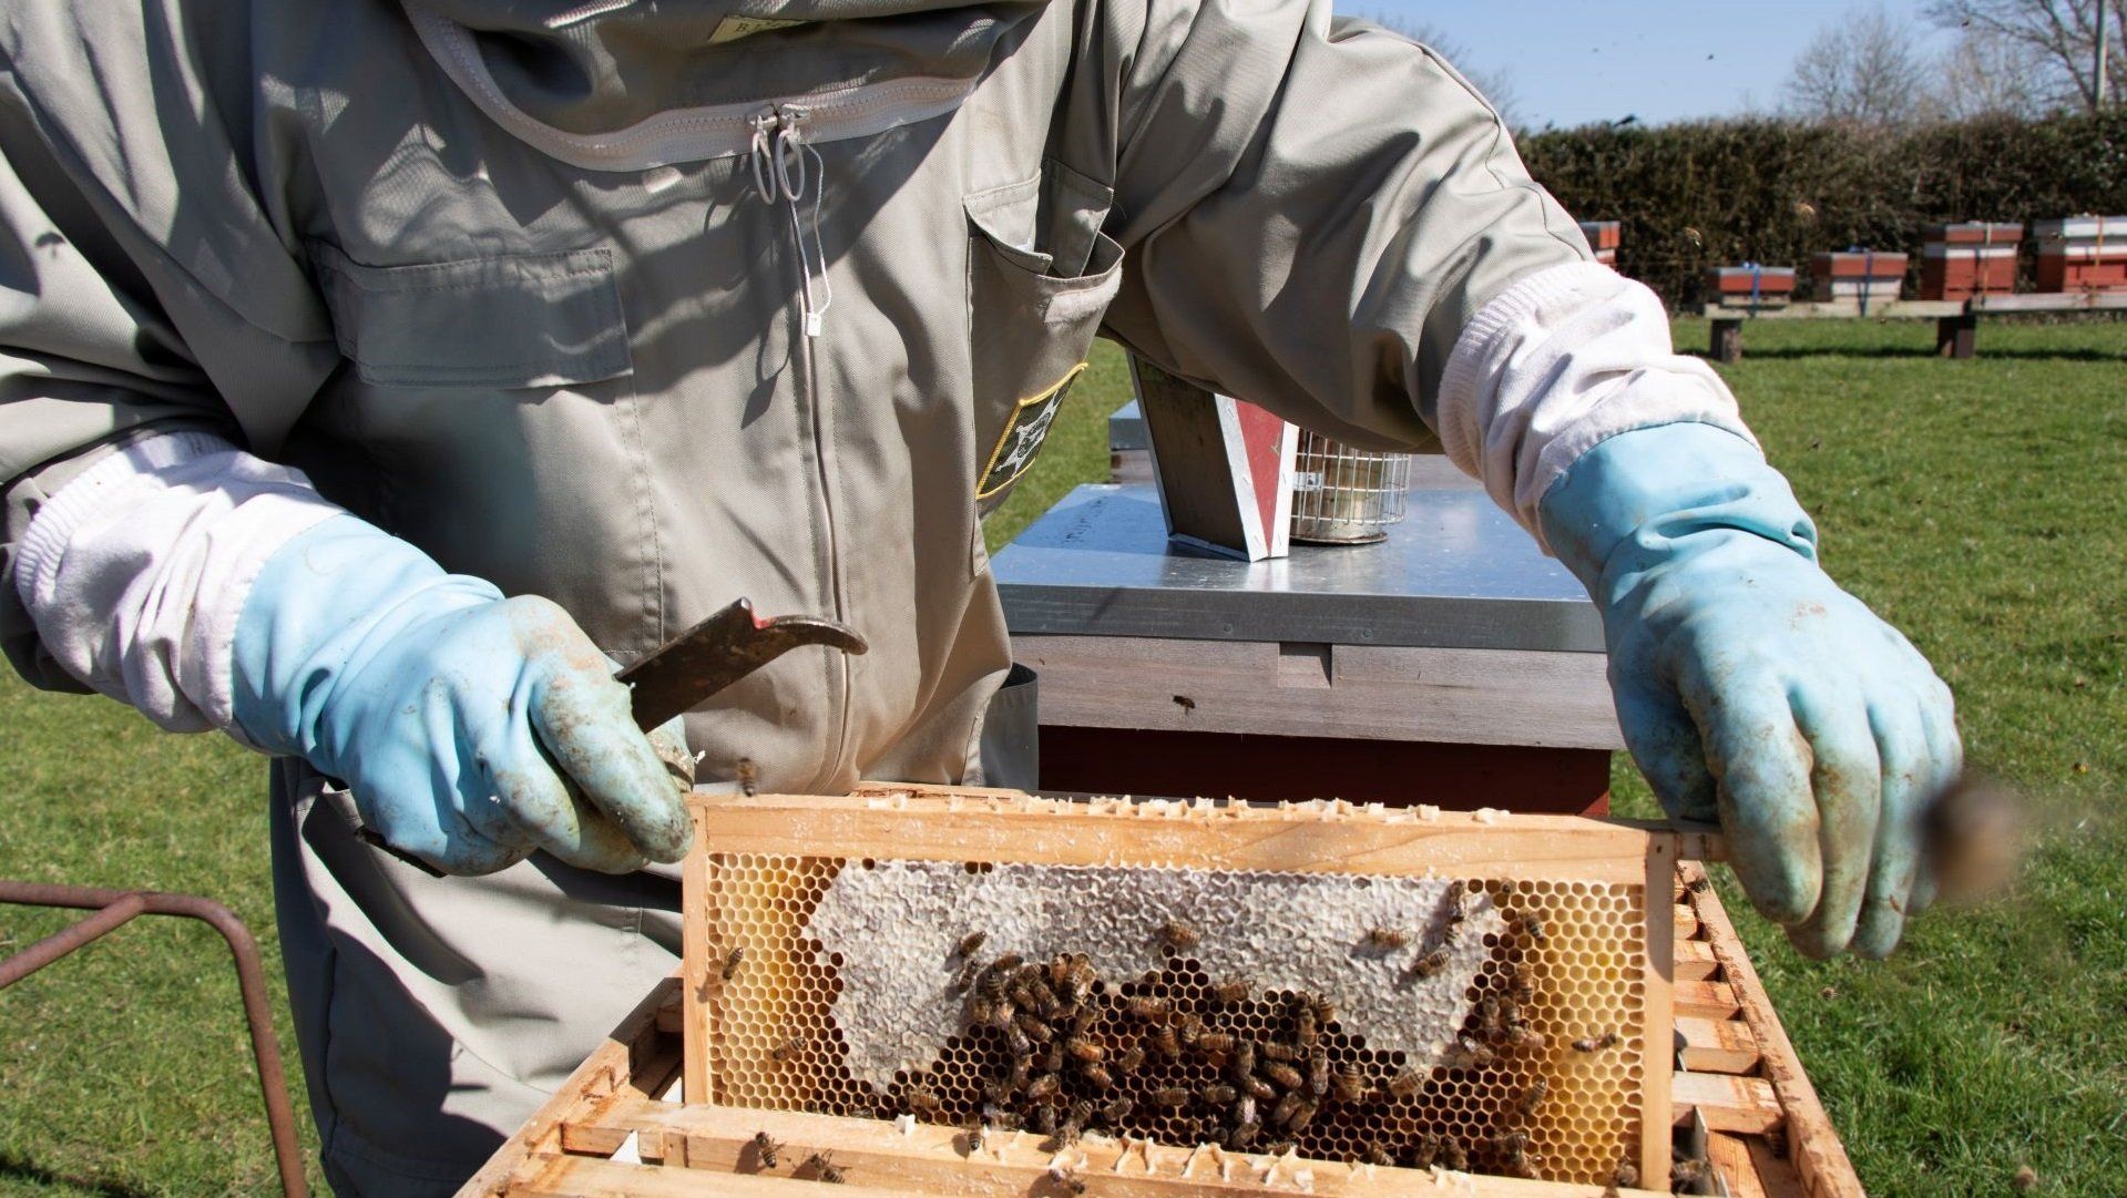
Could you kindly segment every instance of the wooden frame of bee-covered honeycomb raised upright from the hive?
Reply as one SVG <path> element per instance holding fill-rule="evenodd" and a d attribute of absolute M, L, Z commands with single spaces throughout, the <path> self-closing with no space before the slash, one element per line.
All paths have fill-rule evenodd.
<path fill-rule="evenodd" d="M 1668 1128 L 1665 1111 L 1651 1117 L 1646 1109 L 1648 1068 L 1659 1070 L 1661 1089 L 1668 1079 L 1665 1062 L 1646 1053 L 1668 1038 L 1665 1030 L 1651 1036 L 1668 1021 L 1668 994 L 1648 994 L 1659 983 L 1646 970 L 1648 862 L 1644 845 L 1634 858 L 1631 838 L 1606 845 L 1614 858 L 1600 866 L 1589 855 L 1529 860 L 1512 841 L 1542 828 L 1521 828 L 1523 819 L 1534 817 L 1478 826 L 1455 815 L 1427 821 L 1308 806 L 1183 806 L 1146 817 L 1040 800 L 734 800 L 704 819 L 708 845 L 689 864 L 689 962 L 700 960 L 689 968 L 689 1036 L 700 1030 L 702 1041 L 689 1043 L 689 1062 L 700 1060 L 693 1085 L 706 1087 L 689 1089 L 689 1100 L 993 1130 L 1019 1124 L 1044 1134 L 1074 1107 L 1078 1115 L 1121 1111 L 1115 1100 L 1123 1098 L 1127 1113 L 1093 1113 L 1087 1128 L 1189 1147 L 1234 1134 L 1234 1098 L 1221 1087 L 1236 1079 L 1238 1045 L 1319 1043 L 1327 1068 L 1355 1081 L 1323 1096 L 1308 1083 L 1259 1083 L 1266 1128 L 1249 1151 L 1291 1143 L 1302 1158 L 1329 1162 L 1606 1183 L 1619 1162 L 1648 1160 L 1651 1132 Z M 1310 843 L 1312 851 L 1295 851 Z M 1085 894 L 1095 875 L 1129 875 L 1129 885 L 1102 892 L 1098 911 L 1036 904 L 1015 921 L 989 909 L 987 926 L 970 926 L 974 906 L 964 896 L 1004 870 L 1057 896 Z M 878 885 L 900 872 L 934 879 L 927 885 L 957 875 L 968 885 L 944 904 L 883 902 Z M 1236 881 L 1221 885 L 1212 875 Z M 1306 885 L 1291 885 L 1295 877 Z M 861 894 L 857 909 L 878 919 L 838 917 L 842 892 Z M 1304 896 L 1308 906 L 1266 911 L 1249 919 L 1263 930 L 1244 934 L 1225 909 L 1202 906 L 1236 894 L 1251 902 Z M 1404 898 L 1408 911 L 1397 915 Z M 1123 902 L 1140 909 L 1123 911 Z M 1155 921 L 1187 924 L 1195 943 L 1149 943 L 1144 928 Z M 1280 921 L 1300 930 L 1278 934 Z M 1393 936 L 1374 932 L 1383 926 Z M 976 930 L 985 932 L 981 949 L 959 958 Z M 1251 941 L 1246 951 L 1227 943 L 1240 938 Z M 1285 943 L 1295 955 L 1280 962 Z M 1349 960 L 1332 960 L 1325 943 Z M 1442 947 L 1455 949 L 1453 968 L 1417 979 L 1417 962 Z M 734 949 L 742 949 L 740 966 L 723 977 Z M 1029 1053 L 1032 1077 L 1044 1072 L 1040 1058 L 1061 1062 L 1070 1028 L 1059 1021 L 1053 1036 L 1029 1043 L 976 1026 L 974 977 L 1004 953 L 1036 964 L 1057 953 L 1089 960 L 1098 981 L 1076 1047 L 1098 1053 L 1098 1070 L 1061 1066 L 1061 1085 L 1032 1098 L 1029 1070 L 1017 1089 L 1008 1085 Z M 1453 994 L 1421 1004 L 1412 1019 L 1383 1017 L 1378 1006 L 1368 1013 L 1338 989 L 1361 985 L 1376 958 L 1395 960 L 1410 985 Z M 883 970 L 915 977 L 917 989 L 881 989 Z M 887 998 L 923 987 L 944 1000 Z M 1295 1024 L 1310 1000 L 1336 1013 L 1302 1032 Z M 1146 1011 L 1159 1017 L 1140 1017 Z M 1159 1028 L 1176 1026 L 1212 1047 L 1168 1058 Z M 1589 1051 L 1591 1043 L 1602 1047 Z M 1134 1053 L 1144 1058 L 1136 1070 L 1117 1068 Z M 1310 1062 L 1304 1049 L 1297 1055 L 1304 1075 Z M 1319 1107 L 1297 1134 L 1268 1126 L 1272 1096 L 1287 1089 Z M 1174 1102 L 1183 1092 L 1187 1100 Z"/>

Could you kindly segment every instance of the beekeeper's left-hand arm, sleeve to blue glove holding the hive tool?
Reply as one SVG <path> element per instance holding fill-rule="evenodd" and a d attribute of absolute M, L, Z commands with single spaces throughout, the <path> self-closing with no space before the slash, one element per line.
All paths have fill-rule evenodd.
<path fill-rule="evenodd" d="M 164 117 L 145 85 L 30 98 L 0 70 L 9 658 L 302 755 L 445 870 L 676 860 L 681 785 L 566 613 L 447 575 L 245 449 L 338 353 L 217 113 Z"/>

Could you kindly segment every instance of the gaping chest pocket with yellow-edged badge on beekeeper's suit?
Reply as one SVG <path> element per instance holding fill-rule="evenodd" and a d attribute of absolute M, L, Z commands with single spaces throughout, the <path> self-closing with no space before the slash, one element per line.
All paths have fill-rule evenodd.
<path fill-rule="evenodd" d="M 983 513 L 1034 466 L 1123 283 L 1123 247 L 1100 232 L 1115 192 L 1055 162 L 1025 183 L 966 198 Z"/>

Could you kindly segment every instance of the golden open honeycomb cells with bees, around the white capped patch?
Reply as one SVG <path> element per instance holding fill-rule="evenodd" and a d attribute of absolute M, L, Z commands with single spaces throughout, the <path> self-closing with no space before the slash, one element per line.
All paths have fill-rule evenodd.
<path fill-rule="evenodd" d="M 976 1026 L 970 1009 L 985 989 L 981 966 L 1010 945 L 991 943 L 947 975 L 961 998 L 936 1049 L 910 1058 L 915 1066 L 881 1075 L 853 1068 L 859 1058 L 838 1026 L 844 953 L 864 943 L 866 953 L 893 951 L 885 943 L 855 941 L 830 947 L 808 934 L 830 887 L 844 870 L 874 870 L 883 862 L 806 855 L 710 853 L 706 915 L 715 964 L 704 981 L 710 1034 L 710 1098 L 730 1107 L 810 1111 L 823 1115 L 893 1119 L 912 1115 L 949 1126 L 1023 1128 L 1049 1136 L 1081 1115 L 1089 1134 L 1142 1136 L 1191 1147 L 1227 1143 L 1244 1151 L 1283 1151 L 1329 1162 L 1363 1162 L 1502 1172 L 1546 1181 L 1606 1183 L 1621 1160 L 1640 1153 L 1640 1081 L 1644 1043 L 1644 887 L 1589 881 L 1440 879 L 1483 904 L 1497 919 L 1470 936 L 1472 968 L 1457 1004 L 1457 1034 L 1444 1053 L 1391 1047 L 1380 1028 L 1357 1028 L 1338 994 L 1302 985 L 1255 985 L 1255 979 L 1208 970 L 1212 945 L 1168 945 L 1149 968 L 1091 970 L 1078 1004 L 1078 1041 L 1098 1047 L 1091 1077 L 1066 1060 L 1061 1043 L 1072 1028 L 1057 1024 L 1049 1043 L 1032 1043 L 995 1026 Z M 968 875 L 998 868 L 964 862 Z M 1168 870 L 1185 875 L 1191 870 Z M 1202 870 L 1200 870 L 1202 872 Z M 1410 879 L 1366 875 L 1308 875 L 1349 887 Z M 1187 906 L 1170 913 L 1198 917 Z M 968 930 L 934 928 L 925 945 L 951 945 Z M 1419 945 L 1423 949 L 1425 945 Z M 932 953 L 934 949 L 925 949 Z M 1057 958 L 1029 958 L 1021 970 L 1066 968 L 1072 949 Z M 1081 951 L 1112 960 L 1104 945 Z M 1417 949 L 1412 949 L 1417 951 Z M 1306 977 L 1304 962 L 1295 977 Z M 1138 1002 L 1134 1009 L 1132 1000 Z M 1314 1043 L 1327 1070 L 1344 1075 L 1319 1098 L 1319 1111 L 1293 1134 L 1272 1126 L 1270 1113 L 1300 1087 L 1263 1081 L 1255 1113 L 1261 1132 L 1236 1138 L 1236 1100 L 1217 1087 L 1236 1081 L 1234 1055 L 1253 1043 L 1259 1075 L 1268 1058 L 1297 1049 L 1297 1075 L 1314 1066 L 1300 1024 L 1308 1002 L 1329 1000 L 1338 1011 L 1314 1019 Z M 1157 1019 L 1144 1011 L 1159 1009 Z M 861 1011 L 861 1009 L 859 1009 Z M 876 1017 L 876 1013 L 872 1015 Z M 1187 1028 L 1187 1038 L 1208 1049 L 1168 1058 L 1163 1030 Z M 1614 1036 L 1614 1038 L 1612 1038 Z M 1225 1047 L 1227 1038 L 1234 1047 Z M 1027 1045 L 1021 1053 L 1015 1043 Z M 1132 1049 L 1144 1062 L 1121 1068 Z M 1087 1049 L 1091 1051 L 1091 1049 Z M 1029 1060 L 1040 1077 L 1055 1068 L 1053 1094 L 1029 1096 L 1010 1085 L 1015 1064 Z M 1046 1060 L 1044 1060 L 1046 1058 Z M 870 1075 L 870 1077 L 866 1077 Z M 883 1081 L 881 1083 L 874 1083 Z M 1289 1081 L 1289 1077 L 1287 1077 Z M 1104 1085 L 1102 1085 L 1104 1083 Z M 1206 1094 L 1210 1089 L 1210 1094 Z M 1166 1094 L 1163 1094 L 1166 1092 Z M 1172 1102 L 1178 1092 L 1187 1098 Z M 1115 1104 L 1127 1098 L 1127 1111 Z M 1223 1102 L 1221 1102 L 1223 1100 Z"/>

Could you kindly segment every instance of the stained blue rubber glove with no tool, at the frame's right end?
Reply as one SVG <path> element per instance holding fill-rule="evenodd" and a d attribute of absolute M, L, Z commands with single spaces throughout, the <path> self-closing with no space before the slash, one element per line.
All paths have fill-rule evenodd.
<path fill-rule="evenodd" d="M 1719 817 L 1751 900 L 1810 955 L 1885 955 L 1931 898 L 1921 815 L 1959 775 L 1950 689 L 1816 564 L 1744 438 L 1604 440 L 1540 521 L 1602 611 L 1625 745 L 1672 817 Z"/>

